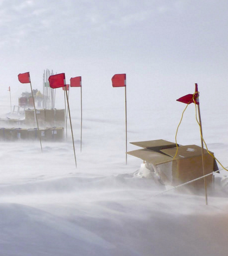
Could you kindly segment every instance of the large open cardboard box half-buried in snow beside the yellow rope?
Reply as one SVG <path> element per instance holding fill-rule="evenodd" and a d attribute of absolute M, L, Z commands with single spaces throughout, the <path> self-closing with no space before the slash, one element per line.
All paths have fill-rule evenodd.
<path fill-rule="evenodd" d="M 143 149 L 128 152 L 129 155 L 144 160 L 151 172 L 160 176 L 164 185 L 177 186 L 203 176 L 201 147 L 197 145 L 179 145 L 176 154 L 176 144 L 163 139 L 131 144 Z M 210 152 L 211 153 L 211 152 Z M 213 155 L 213 153 L 211 153 Z M 216 160 L 204 149 L 205 175 L 218 170 Z M 206 177 L 207 185 L 211 184 L 213 175 Z M 192 182 L 188 187 L 204 188 L 204 179 Z"/>

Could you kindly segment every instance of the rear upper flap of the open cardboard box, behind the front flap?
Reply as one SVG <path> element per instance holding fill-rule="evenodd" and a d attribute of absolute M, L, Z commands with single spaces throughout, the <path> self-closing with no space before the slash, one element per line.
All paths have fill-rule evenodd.
<path fill-rule="evenodd" d="M 149 148 L 151 150 L 159 151 L 161 149 L 174 148 L 176 144 L 169 141 L 164 141 L 164 139 L 156 139 L 155 141 L 140 141 L 140 142 L 130 142 L 133 145 L 142 148 Z"/>

